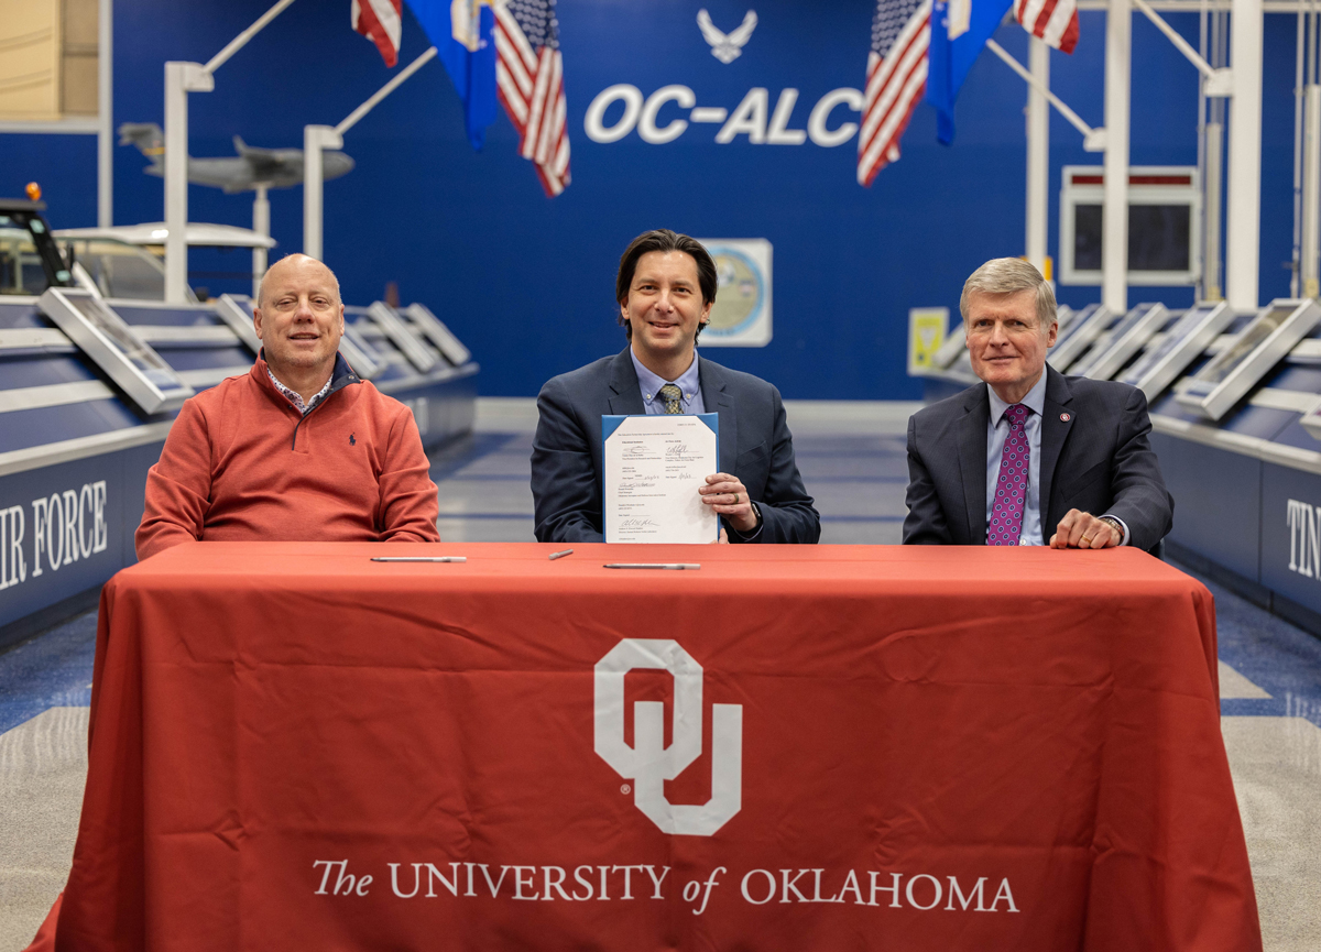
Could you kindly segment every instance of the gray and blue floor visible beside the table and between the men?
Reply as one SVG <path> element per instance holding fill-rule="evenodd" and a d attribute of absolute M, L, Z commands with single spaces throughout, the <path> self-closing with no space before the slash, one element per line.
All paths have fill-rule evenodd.
<path fill-rule="evenodd" d="M 823 543 L 897 543 L 915 404 L 790 403 Z M 530 400 L 482 400 L 477 432 L 435 454 L 441 537 L 532 537 Z M 1321 949 L 1321 642 L 1211 585 L 1225 743 L 1268 952 Z M 30 941 L 67 877 L 86 776 L 94 622 L 0 655 L 0 952 Z"/>

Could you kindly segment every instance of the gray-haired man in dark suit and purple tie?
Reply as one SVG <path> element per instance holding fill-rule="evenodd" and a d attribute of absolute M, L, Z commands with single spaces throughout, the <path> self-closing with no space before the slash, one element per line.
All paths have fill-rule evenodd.
<path fill-rule="evenodd" d="M 983 383 L 909 420 L 904 543 L 1155 548 L 1174 500 L 1143 392 L 1046 366 L 1055 296 L 1026 261 L 983 264 L 959 310 Z"/>

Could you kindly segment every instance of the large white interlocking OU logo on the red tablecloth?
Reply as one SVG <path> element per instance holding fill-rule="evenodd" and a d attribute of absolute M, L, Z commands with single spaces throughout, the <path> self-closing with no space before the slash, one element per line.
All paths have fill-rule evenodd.
<path fill-rule="evenodd" d="M 674 730 L 664 746 L 664 705 L 635 701 L 633 742 L 624 741 L 624 676 L 658 668 L 674 676 Z M 666 833 L 711 836 L 742 808 L 742 705 L 711 709 L 711 800 L 672 804 L 664 782 L 701 754 L 701 665 L 668 639 L 629 638 L 596 663 L 596 753 L 633 780 L 633 803 Z"/>

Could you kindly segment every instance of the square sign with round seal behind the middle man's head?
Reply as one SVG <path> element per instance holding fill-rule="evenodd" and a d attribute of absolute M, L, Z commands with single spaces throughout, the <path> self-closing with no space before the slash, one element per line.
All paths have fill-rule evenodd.
<path fill-rule="evenodd" d="M 701 331 L 707 347 L 770 343 L 771 248 L 765 238 L 699 238 L 716 261 L 716 302 Z"/>

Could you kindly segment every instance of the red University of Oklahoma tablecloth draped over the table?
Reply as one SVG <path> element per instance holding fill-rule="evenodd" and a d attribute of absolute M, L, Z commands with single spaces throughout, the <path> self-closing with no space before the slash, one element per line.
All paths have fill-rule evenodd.
<path fill-rule="evenodd" d="M 120 572 L 57 947 L 1260 948 L 1194 580 L 1128 549 L 556 548 Z"/>

